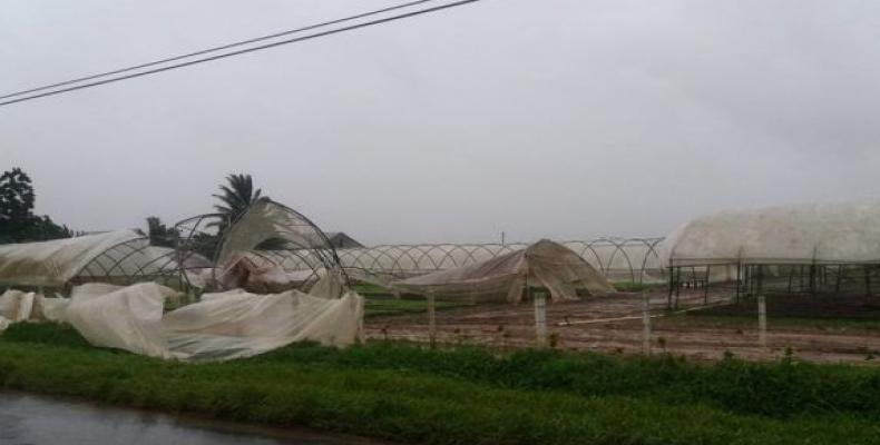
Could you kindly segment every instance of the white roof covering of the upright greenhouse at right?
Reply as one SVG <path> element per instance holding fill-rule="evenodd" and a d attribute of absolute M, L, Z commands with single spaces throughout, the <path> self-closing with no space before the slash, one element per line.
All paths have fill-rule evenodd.
<path fill-rule="evenodd" d="M 669 235 L 672 267 L 722 264 L 880 263 L 880 204 L 831 204 L 722 211 Z"/>

